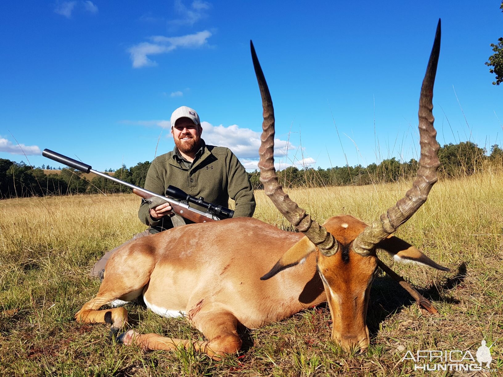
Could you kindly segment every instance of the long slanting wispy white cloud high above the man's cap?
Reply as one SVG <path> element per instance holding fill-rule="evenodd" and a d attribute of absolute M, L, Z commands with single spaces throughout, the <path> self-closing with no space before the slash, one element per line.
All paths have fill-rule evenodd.
<path fill-rule="evenodd" d="M 127 51 L 131 55 L 131 61 L 134 68 L 157 65 L 155 61 L 150 60 L 147 55 L 158 55 L 171 52 L 178 47 L 198 48 L 207 44 L 207 39 L 211 33 L 207 30 L 188 34 L 181 37 L 153 36 L 149 39 L 153 42 L 142 42 L 130 47 Z"/>

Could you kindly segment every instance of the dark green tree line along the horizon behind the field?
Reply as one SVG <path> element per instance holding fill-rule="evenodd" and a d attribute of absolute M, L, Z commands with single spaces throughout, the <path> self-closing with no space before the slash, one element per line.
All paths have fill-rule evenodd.
<path fill-rule="evenodd" d="M 458 144 L 445 144 L 440 147 L 439 174 L 450 178 L 473 174 L 486 163 L 503 165 L 503 149 L 497 144 L 490 148 L 489 154 L 470 141 Z M 143 187 L 150 162 L 138 162 L 127 168 L 122 165 L 113 172 L 121 180 Z M 418 162 L 410 159 L 400 162 L 395 157 L 371 163 L 367 167 L 336 166 L 328 169 L 318 167 L 299 169 L 295 166 L 278 171 L 280 183 L 285 187 L 319 187 L 363 185 L 380 182 L 396 182 L 416 175 Z M 112 175 L 113 169 L 107 173 Z M 260 171 L 249 172 L 248 177 L 255 190 L 263 189 Z M 129 187 L 100 176 L 82 174 L 80 171 L 66 167 L 59 174 L 46 174 L 40 167 L 24 162 L 14 162 L 0 158 L 0 199 L 45 195 L 97 194 L 97 193 L 130 193 Z"/>

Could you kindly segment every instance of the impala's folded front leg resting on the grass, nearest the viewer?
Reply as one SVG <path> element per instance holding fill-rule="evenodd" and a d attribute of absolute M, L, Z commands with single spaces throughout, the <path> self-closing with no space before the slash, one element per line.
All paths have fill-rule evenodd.
<path fill-rule="evenodd" d="M 139 334 L 129 330 L 121 335 L 120 340 L 126 344 L 138 344 L 146 349 L 173 350 L 181 345 L 184 348 L 194 347 L 214 360 L 220 360 L 226 354 L 237 352 L 241 348 L 241 338 L 237 334 L 237 319 L 227 311 L 210 311 L 198 315 L 192 321 L 203 332 L 207 341 L 177 339 L 159 334 Z"/>

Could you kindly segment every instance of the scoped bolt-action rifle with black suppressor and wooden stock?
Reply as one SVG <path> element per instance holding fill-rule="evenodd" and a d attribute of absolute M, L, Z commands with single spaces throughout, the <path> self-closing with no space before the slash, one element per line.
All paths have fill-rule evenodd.
<path fill-rule="evenodd" d="M 72 167 L 76 170 L 80 170 L 84 173 L 93 173 L 96 175 L 99 175 L 103 178 L 113 180 L 114 182 L 120 183 L 124 186 L 129 187 L 130 189 L 133 190 L 133 193 L 138 195 L 139 197 L 142 197 L 144 200 L 148 200 L 152 197 L 157 197 L 165 202 L 170 203 L 172 207 L 172 212 L 176 213 L 177 215 L 180 215 L 186 219 L 189 219 L 195 223 L 206 223 L 209 221 L 216 221 L 220 219 L 228 219 L 231 218 L 234 215 L 234 211 L 219 206 L 215 205 L 212 203 L 207 203 L 204 201 L 204 198 L 195 198 L 191 195 L 188 195 L 185 193 L 183 190 L 179 189 L 178 187 L 175 186 L 169 186 L 167 187 L 166 190 L 166 195 L 159 195 L 152 193 L 151 191 L 145 190 L 140 186 L 136 186 L 132 183 L 125 182 L 123 180 L 120 180 L 116 177 L 110 176 L 108 174 L 102 173 L 101 171 L 94 170 L 91 165 L 85 164 L 83 162 L 74 160 L 73 158 L 64 156 L 62 154 L 59 154 L 57 152 L 53 152 L 49 149 L 44 149 L 42 151 L 42 156 L 50 158 L 51 160 L 57 161 L 59 163 L 65 164 L 69 167 Z M 181 201 L 178 201 L 177 199 L 181 199 Z M 199 206 L 205 207 L 207 209 L 206 212 L 199 211 L 195 208 L 192 208 L 189 206 L 190 203 L 197 204 Z"/>

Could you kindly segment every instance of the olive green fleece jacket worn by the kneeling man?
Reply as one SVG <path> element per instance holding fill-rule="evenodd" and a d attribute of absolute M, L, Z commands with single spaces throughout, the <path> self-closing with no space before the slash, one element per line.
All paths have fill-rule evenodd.
<path fill-rule="evenodd" d="M 246 171 L 237 157 L 225 147 L 206 145 L 203 140 L 200 153 L 189 166 L 176 155 L 176 150 L 152 161 L 145 180 L 145 189 L 165 195 L 170 184 L 205 202 L 229 207 L 229 198 L 235 201 L 233 217 L 251 217 L 255 212 L 255 197 Z M 176 149 L 176 147 L 175 147 Z M 206 212 L 194 204 L 191 207 Z M 142 202 L 138 211 L 140 221 L 150 226 L 150 233 L 173 228 L 169 216 L 154 219 L 148 204 Z M 190 220 L 184 219 L 189 224 Z"/>

